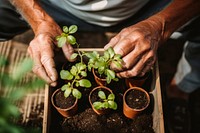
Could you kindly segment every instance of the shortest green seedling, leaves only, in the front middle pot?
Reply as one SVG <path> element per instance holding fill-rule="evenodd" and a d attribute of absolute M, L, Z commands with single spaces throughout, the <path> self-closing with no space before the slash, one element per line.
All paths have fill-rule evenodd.
<path fill-rule="evenodd" d="M 102 101 L 97 101 L 93 103 L 95 109 L 117 109 L 117 103 L 114 101 L 115 95 L 113 93 L 109 94 L 108 97 L 106 97 L 106 94 L 103 91 L 99 91 L 98 96 Z"/>

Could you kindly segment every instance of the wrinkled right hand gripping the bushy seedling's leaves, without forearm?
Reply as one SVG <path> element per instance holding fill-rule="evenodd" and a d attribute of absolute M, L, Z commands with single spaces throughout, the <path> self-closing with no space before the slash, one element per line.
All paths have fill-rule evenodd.
<path fill-rule="evenodd" d="M 111 39 L 104 48 L 113 47 L 124 61 L 121 70 L 112 66 L 118 77 L 143 76 L 150 70 L 162 39 L 162 27 L 156 19 L 147 19 L 123 29 Z"/>

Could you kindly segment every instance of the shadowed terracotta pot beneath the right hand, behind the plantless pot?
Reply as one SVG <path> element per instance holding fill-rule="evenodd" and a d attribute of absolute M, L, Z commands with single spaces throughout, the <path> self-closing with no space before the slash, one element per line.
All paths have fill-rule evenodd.
<path fill-rule="evenodd" d="M 131 87 L 142 87 L 148 77 L 149 77 L 149 72 L 147 72 L 142 77 L 126 78 L 125 79 L 125 83 L 126 83 L 126 86 L 128 88 L 131 88 Z"/>

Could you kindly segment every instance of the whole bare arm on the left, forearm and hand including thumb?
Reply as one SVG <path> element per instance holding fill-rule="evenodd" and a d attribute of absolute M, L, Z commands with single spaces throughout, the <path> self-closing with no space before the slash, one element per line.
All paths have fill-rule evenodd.
<path fill-rule="evenodd" d="M 30 24 L 35 37 L 30 42 L 28 53 L 34 61 L 33 72 L 52 86 L 58 74 L 54 62 L 55 37 L 62 32 L 59 25 L 45 12 L 38 0 L 10 0 Z M 70 45 L 62 48 L 67 59 L 73 53 Z"/>

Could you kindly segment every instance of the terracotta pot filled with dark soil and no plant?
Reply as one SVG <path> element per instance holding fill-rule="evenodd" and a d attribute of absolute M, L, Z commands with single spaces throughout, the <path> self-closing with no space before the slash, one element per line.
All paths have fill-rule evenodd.
<path fill-rule="evenodd" d="M 140 103 L 142 100 L 144 102 Z M 131 103 L 133 105 L 130 105 Z M 133 119 L 145 110 L 149 106 L 149 103 L 150 96 L 144 89 L 131 87 L 123 95 L 123 113 L 127 118 Z"/>

